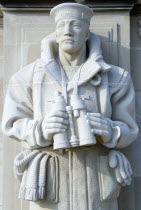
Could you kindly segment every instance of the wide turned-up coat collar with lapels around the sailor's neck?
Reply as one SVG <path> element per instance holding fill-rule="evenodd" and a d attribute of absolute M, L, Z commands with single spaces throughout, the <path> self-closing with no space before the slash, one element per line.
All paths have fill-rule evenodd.
<path fill-rule="evenodd" d="M 48 38 L 46 38 L 46 40 L 43 41 L 43 44 L 46 45 L 46 47 L 44 48 L 47 49 L 48 52 L 42 52 L 42 57 L 39 62 L 39 66 L 42 66 L 44 72 L 48 74 L 48 76 L 58 86 L 61 86 L 61 80 L 62 80 L 61 67 L 55 60 L 52 53 L 55 42 L 55 40 L 53 40 L 54 34 L 52 34 L 52 40 L 50 37 L 51 35 L 49 36 L 49 41 Z M 88 48 L 89 48 L 89 58 L 83 64 L 81 72 L 77 71 L 73 79 L 69 81 L 67 87 L 68 91 L 74 87 L 76 82 L 78 86 L 83 85 L 84 83 L 91 80 L 98 72 L 101 71 L 105 73 L 111 69 L 111 67 L 108 64 L 106 64 L 103 60 L 99 38 L 93 33 L 91 33 L 90 35 L 90 39 L 88 41 Z"/>

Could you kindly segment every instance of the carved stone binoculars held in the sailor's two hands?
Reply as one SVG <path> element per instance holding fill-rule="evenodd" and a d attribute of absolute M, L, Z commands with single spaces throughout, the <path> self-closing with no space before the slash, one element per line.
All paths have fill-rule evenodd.
<path fill-rule="evenodd" d="M 65 132 L 54 134 L 54 149 L 96 144 L 91 126 L 87 123 L 85 117 L 87 114 L 85 102 L 78 94 L 71 96 L 70 106 L 67 106 L 64 96 L 58 92 L 54 97 L 52 108 L 53 110 L 68 113 L 69 117 L 69 132 L 66 130 Z"/>

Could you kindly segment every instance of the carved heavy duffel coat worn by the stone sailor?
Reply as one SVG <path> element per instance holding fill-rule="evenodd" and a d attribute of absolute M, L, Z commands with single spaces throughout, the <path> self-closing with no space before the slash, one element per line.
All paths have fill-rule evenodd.
<path fill-rule="evenodd" d="M 89 57 L 81 69 L 78 91 L 88 112 L 99 112 L 111 123 L 113 136 L 109 143 L 102 144 L 97 137 L 94 146 L 71 148 L 61 154 L 53 150 L 52 139 L 43 138 L 42 120 L 52 109 L 55 91 L 62 91 L 61 70 L 52 55 L 51 45 L 46 47 L 45 59 L 27 65 L 10 80 L 3 132 L 21 140 L 25 147 L 46 151 L 59 160 L 59 175 L 53 175 L 54 185 L 56 179 L 59 185 L 49 192 L 58 193 L 58 202 L 53 199 L 32 202 L 31 209 L 117 209 L 120 185 L 109 168 L 107 155 L 112 148 L 130 145 L 138 134 L 135 94 L 129 73 L 103 61 L 96 35 L 91 34 L 89 43 Z M 68 103 L 77 78 L 78 72 L 68 82 Z"/>

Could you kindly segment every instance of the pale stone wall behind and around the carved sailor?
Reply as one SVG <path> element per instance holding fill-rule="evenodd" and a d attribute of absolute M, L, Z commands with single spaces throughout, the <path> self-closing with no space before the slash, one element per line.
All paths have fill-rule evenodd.
<path fill-rule="evenodd" d="M 138 1 L 141 3 L 141 1 Z M 40 56 L 40 42 L 54 30 L 49 11 L 5 10 L 0 16 L 0 109 L 7 84 L 14 72 Z M 4 30 L 2 23 L 4 21 Z M 91 30 L 100 35 L 107 62 L 131 71 L 136 91 L 137 122 L 141 131 L 141 13 L 129 10 L 96 11 Z M 4 32 L 4 33 L 3 33 Z M 4 38 L 4 49 L 3 49 Z M 4 56 L 4 57 L 3 57 Z M 3 59 L 4 58 L 4 59 Z M 3 71 L 4 69 L 4 71 Z M 3 90 L 2 90 L 3 87 Z M 0 117 L 2 112 L 0 113 Z M 123 152 L 130 160 L 134 180 L 122 189 L 119 210 L 141 209 L 141 133 Z M 19 183 L 13 174 L 13 159 L 22 150 L 14 140 L 0 133 L 0 210 L 28 210 L 29 203 L 18 199 Z"/>

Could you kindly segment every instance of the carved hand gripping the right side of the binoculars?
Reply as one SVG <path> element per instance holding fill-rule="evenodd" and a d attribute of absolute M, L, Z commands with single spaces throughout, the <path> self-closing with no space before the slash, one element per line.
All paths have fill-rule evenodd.
<path fill-rule="evenodd" d="M 102 143 L 110 142 L 112 139 L 112 127 L 110 122 L 100 113 L 87 113 L 87 122 L 92 127 L 92 132 L 101 136 Z"/>

